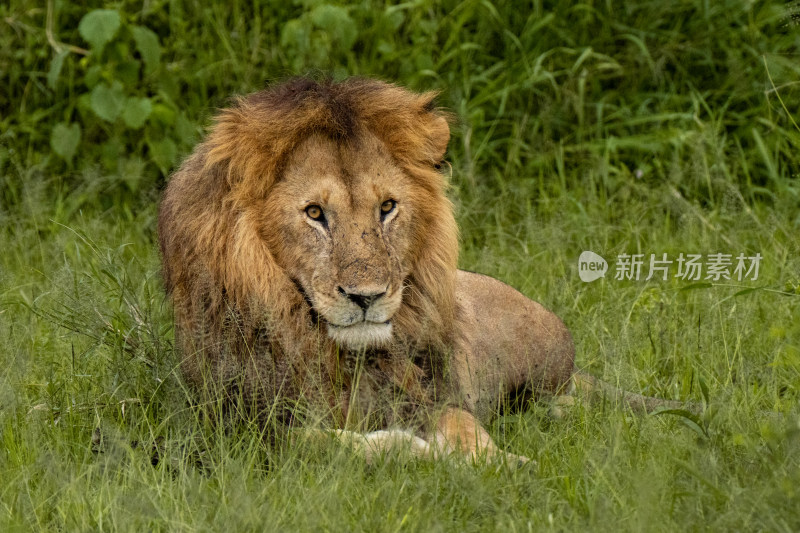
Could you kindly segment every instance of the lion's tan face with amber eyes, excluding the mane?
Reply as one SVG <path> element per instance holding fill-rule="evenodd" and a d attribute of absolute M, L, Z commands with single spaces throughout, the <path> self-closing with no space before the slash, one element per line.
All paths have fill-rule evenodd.
<path fill-rule="evenodd" d="M 423 198 L 370 134 L 345 145 L 312 136 L 290 155 L 263 205 L 263 235 L 338 344 L 392 339 Z"/>

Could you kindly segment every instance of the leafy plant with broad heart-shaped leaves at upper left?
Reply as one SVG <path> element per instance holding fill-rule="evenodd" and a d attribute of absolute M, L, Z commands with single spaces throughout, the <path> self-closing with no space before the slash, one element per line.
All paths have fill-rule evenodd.
<path fill-rule="evenodd" d="M 70 15 L 80 13 L 74 6 L 64 7 Z M 78 170 L 99 162 L 136 197 L 143 192 L 141 186 L 169 173 L 179 147 L 186 150 L 194 142 L 196 128 L 176 104 L 177 80 L 165 75 L 161 43 L 153 30 L 115 9 L 85 12 L 77 27 L 89 50 L 56 42 L 47 71 L 52 94 L 67 91 L 68 96 L 45 104 L 51 106 L 48 114 L 66 121 L 53 126 L 50 146 L 57 158 L 44 164 L 57 170 L 59 159 L 71 164 L 80 153 Z M 136 161 L 149 162 L 140 170 L 144 180 L 125 175 L 139 166 Z"/>

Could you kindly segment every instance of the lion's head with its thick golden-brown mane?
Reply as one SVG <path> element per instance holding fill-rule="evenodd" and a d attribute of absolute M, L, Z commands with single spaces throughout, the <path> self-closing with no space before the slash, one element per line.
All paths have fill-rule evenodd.
<path fill-rule="evenodd" d="M 159 215 L 184 351 L 241 351 L 231 316 L 239 338 L 304 357 L 449 342 L 457 230 L 433 98 L 295 79 L 219 113 Z"/>

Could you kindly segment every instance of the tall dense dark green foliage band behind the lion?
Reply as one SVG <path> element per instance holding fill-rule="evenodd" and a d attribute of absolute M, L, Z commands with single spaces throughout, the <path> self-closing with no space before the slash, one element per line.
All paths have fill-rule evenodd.
<path fill-rule="evenodd" d="M 728 186 L 747 202 L 800 195 L 798 32 L 780 3 L 49 6 L 52 39 L 46 12 L 2 8 L 15 31 L 0 50 L 12 87 L 0 104 L 22 110 L 4 117 L 4 143 L 24 154 L 16 164 L 59 172 L 72 160 L 49 157 L 42 132 L 77 123 L 72 168 L 120 176 L 142 161 L 132 197 L 160 183 L 229 95 L 305 72 L 441 90 L 470 184 L 542 176 L 552 191 L 599 168 L 605 198 L 637 182 L 711 207 Z M 30 72 L 46 83 L 29 85 Z M 671 165 L 698 150 L 713 154 L 705 170 Z"/>

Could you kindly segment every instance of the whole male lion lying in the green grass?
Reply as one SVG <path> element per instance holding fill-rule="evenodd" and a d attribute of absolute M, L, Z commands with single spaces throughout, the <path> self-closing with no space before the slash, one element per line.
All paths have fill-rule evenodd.
<path fill-rule="evenodd" d="M 185 381 L 374 457 L 527 458 L 484 429 L 575 374 L 564 323 L 459 270 L 433 92 L 295 78 L 238 98 L 159 210 Z"/>

